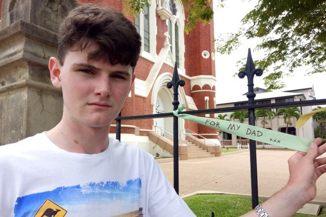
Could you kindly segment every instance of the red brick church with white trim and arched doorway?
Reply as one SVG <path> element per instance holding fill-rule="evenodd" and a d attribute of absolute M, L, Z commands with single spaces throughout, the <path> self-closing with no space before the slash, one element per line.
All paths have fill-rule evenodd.
<path fill-rule="evenodd" d="M 53 10 L 57 5 L 62 10 L 66 10 L 65 5 L 68 5 L 68 2 L 74 2 L 66 1 L 58 3 L 50 0 L 44 3 L 44 7 L 51 5 L 50 8 L 46 8 L 48 11 Z M 2 2 L 0 0 L 0 8 Z M 78 4 L 87 2 L 124 11 L 123 1 L 77 0 Z M 8 10 L 17 7 L 16 1 L 12 1 L 7 6 Z M 215 107 L 213 20 L 210 24 L 198 23 L 194 30 L 186 34 L 184 25 L 187 12 L 184 8 L 181 1 L 151 0 L 150 7 L 145 8 L 139 16 L 127 15 L 135 23 L 142 36 L 143 47 L 141 58 L 135 68 L 136 79 L 123 107 L 122 116 L 172 112 L 173 88 L 168 89 L 167 83 L 172 79 L 175 62 L 178 64 L 180 79 L 185 81 L 185 86 L 179 87 L 180 104 L 185 104 L 187 110 Z M 5 13 L 8 13 L 7 9 Z M 6 22 L 9 22 L 8 19 Z M 58 19 L 56 21 L 59 22 Z M 212 117 L 212 115 L 207 116 Z M 171 138 L 172 122 L 172 117 L 122 121 L 121 140 L 149 149 L 148 134 L 156 131 Z M 115 130 L 115 124 L 113 124 L 110 133 L 115 133 Z M 187 130 L 215 139 L 218 143 L 217 130 L 179 119 L 180 138 L 185 138 Z"/>

